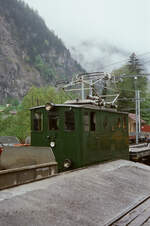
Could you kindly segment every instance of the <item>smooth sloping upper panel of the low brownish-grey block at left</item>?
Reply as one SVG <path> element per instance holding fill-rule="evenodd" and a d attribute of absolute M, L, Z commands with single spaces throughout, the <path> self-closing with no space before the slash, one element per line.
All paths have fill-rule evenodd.
<path fill-rule="evenodd" d="M 0 170 L 15 169 L 44 163 L 55 162 L 50 147 L 4 147 L 0 155 Z"/>

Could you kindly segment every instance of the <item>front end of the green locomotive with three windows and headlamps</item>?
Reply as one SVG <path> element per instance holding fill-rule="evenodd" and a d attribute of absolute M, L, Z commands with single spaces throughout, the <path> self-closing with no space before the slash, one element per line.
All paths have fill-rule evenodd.
<path fill-rule="evenodd" d="M 31 109 L 31 145 L 51 147 L 60 170 L 80 166 L 77 120 L 72 107 L 46 105 Z"/>

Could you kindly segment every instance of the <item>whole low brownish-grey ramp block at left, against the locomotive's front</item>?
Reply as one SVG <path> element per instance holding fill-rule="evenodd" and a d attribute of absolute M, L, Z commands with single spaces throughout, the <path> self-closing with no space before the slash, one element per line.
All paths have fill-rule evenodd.
<path fill-rule="evenodd" d="M 0 155 L 0 189 L 54 176 L 57 168 L 50 147 L 4 147 Z"/>

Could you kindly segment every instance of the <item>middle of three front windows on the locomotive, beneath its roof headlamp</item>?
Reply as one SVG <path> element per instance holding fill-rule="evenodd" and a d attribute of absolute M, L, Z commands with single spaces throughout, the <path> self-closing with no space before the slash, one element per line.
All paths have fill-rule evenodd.
<path fill-rule="evenodd" d="M 58 113 L 56 111 L 50 111 L 48 114 L 48 129 L 57 130 L 58 120 Z"/>

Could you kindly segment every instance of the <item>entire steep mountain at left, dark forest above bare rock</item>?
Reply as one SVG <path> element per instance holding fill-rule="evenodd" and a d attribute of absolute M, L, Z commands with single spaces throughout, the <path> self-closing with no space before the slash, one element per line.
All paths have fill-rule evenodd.
<path fill-rule="evenodd" d="M 19 0 L 0 0 L 0 102 L 32 86 L 83 72 L 42 18 Z"/>

